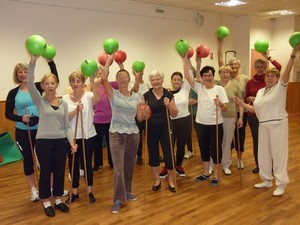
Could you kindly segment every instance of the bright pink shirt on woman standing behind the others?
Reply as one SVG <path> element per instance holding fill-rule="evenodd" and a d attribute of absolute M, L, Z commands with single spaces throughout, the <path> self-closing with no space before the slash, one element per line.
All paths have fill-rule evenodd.
<path fill-rule="evenodd" d="M 110 82 L 112 88 L 119 89 L 117 82 Z M 100 94 L 100 101 L 94 105 L 94 123 L 110 123 L 111 122 L 111 108 L 109 98 L 105 92 L 103 85 L 98 86 Z"/>

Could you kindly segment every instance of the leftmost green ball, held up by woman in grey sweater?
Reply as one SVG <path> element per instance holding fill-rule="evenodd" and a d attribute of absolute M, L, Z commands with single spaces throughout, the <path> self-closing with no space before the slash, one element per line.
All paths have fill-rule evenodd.
<path fill-rule="evenodd" d="M 46 49 L 46 40 L 40 35 L 31 35 L 25 44 L 29 54 L 34 56 L 43 55 Z"/>

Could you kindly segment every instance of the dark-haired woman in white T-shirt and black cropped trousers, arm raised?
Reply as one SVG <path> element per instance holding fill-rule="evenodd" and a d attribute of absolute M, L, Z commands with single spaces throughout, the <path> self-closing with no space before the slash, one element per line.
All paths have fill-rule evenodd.
<path fill-rule="evenodd" d="M 200 83 L 198 83 L 189 75 L 192 70 L 190 59 L 183 57 L 183 63 L 185 78 L 198 94 L 198 111 L 195 126 L 204 171 L 195 181 L 201 182 L 210 179 L 209 163 L 210 158 L 212 158 L 214 163 L 214 178 L 211 181 L 211 185 L 217 186 L 219 183 L 217 165 L 221 162 L 222 158 L 222 112 L 227 111 L 226 103 L 228 102 L 228 98 L 224 88 L 215 85 L 215 70 L 213 67 L 205 66 L 200 71 L 200 59 L 197 58 L 196 77 L 200 81 Z M 218 134 L 216 134 L 216 127 L 218 127 Z"/>

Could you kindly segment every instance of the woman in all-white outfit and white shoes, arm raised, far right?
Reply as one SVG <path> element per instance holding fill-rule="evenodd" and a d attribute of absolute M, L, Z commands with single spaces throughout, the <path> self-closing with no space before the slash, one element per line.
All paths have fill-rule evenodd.
<path fill-rule="evenodd" d="M 288 163 L 288 114 L 286 108 L 287 86 L 300 45 L 293 49 L 286 69 L 280 78 L 280 72 L 273 68 L 265 72 L 266 87 L 257 92 L 253 106 L 235 97 L 235 101 L 255 112 L 259 121 L 258 166 L 262 183 L 256 188 L 272 187 L 275 177 L 276 190 L 273 196 L 284 194 L 285 185 L 289 182 Z M 280 138 L 278 138 L 280 137 Z"/>

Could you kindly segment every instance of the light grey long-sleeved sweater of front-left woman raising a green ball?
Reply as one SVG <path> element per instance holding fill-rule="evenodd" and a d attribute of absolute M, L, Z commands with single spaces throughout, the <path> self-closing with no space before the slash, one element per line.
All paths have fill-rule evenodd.
<path fill-rule="evenodd" d="M 72 143 L 73 134 L 69 123 L 67 103 L 60 100 L 58 109 L 52 108 L 34 85 L 34 69 L 35 63 L 30 63 L 28 66 L 27 84 L 30 96 L 38 109 L 40 117 L 36 139 L 67 138 Z"/>

